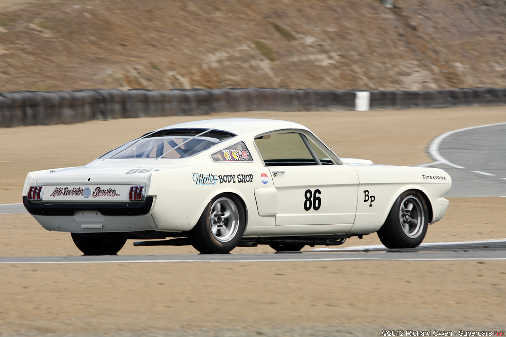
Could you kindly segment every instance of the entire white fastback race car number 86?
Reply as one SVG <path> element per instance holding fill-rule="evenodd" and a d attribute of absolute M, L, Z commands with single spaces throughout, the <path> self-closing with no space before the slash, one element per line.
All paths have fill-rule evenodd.
<path fill-rule="evenodd" d="M 85 255 L 116 254 L 126 239 L 228 253 L 373 232 L 388 248 L 414 248 L 450 187 L 441 169 L 340 159 L 300 124 L 215 119 L 149 132 L 83 167 L 30 172 L 23 204 Z"/>

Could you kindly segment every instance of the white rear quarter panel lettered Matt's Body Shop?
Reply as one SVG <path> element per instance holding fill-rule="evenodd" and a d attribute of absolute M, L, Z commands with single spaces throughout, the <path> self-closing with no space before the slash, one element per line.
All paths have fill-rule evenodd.
<path fill-rule="evenodd" d="M 269 175 L 267 183 L 261 175 Z M 264 179 L 265 181 L 265 179 Z M 213 163 L 153 172 L 149 195 L 156 196 L 152 216 L 158 230 L 193 228 L 206 205 L 231 193 L 244 203 L 246 226 L 274 226 L 274 216 L 260 216 L 255 189 L 272 188 L 270 172 L 255 163 Z"/>

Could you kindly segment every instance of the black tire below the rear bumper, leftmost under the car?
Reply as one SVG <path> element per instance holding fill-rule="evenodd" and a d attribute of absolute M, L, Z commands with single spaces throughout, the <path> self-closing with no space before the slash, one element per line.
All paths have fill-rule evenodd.
<path fill-rule="evenodd" d="M 126 242 L 121 234 L 70 233 L 75 246 L 84 255 L 116 255 Z"/>

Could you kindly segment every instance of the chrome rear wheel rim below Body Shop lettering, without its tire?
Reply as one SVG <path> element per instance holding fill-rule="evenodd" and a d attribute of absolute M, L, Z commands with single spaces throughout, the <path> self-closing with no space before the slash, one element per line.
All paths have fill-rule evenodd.
<path fill-rule="evenodd" d="M 211 233 L 219 242 L 229 242 L 239 228 L 239 211 L 234 202 L 220 198 L 214 202 L 209 212 Z"/>

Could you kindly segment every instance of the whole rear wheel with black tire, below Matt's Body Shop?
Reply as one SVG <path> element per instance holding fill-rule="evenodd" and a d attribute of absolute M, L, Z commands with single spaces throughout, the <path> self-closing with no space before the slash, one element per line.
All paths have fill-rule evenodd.
<path fill-rule="evenodd" d="M 234 195 L 221 195 L 207 204 L 188 238 L 202 254 L 225 254 L 239 244 L 245 227 L 242 203 Z"/>

